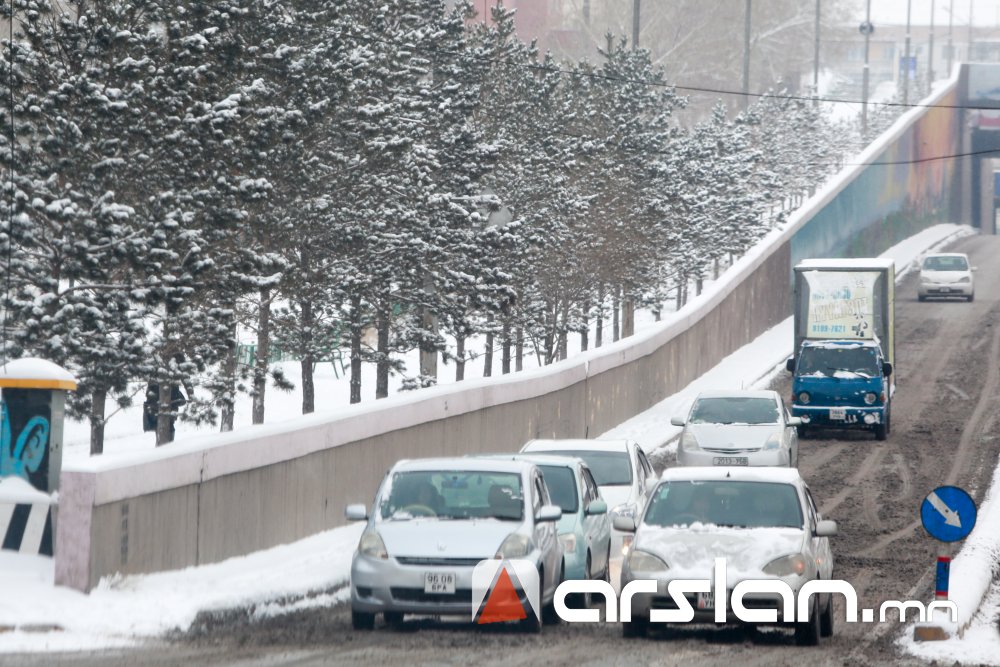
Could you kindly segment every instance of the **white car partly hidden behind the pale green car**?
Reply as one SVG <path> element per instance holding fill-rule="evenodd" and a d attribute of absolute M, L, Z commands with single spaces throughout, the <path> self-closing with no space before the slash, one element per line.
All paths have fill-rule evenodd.
<path fill-rule="evenodd" d="M 641 516 L 649 491 L 656 486 L 653 466 L 633 440 L 531 440 L 521 451 L 583 459 L 608 503 L 612 524 L 615 517 Z M 631 543 L 631 533 L 612 529 L 611 557 L 626 553 Z"/>

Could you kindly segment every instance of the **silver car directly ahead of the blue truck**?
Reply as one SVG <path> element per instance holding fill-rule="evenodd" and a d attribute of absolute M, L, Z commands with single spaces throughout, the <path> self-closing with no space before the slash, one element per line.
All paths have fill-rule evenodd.
<path fill-rule="evenodd" d="M 699 394 L 677 445 L 682 466 L 785 466 L 799 464 L 798 417 L 790 417 L 776 391 L 706 391 Z"/>

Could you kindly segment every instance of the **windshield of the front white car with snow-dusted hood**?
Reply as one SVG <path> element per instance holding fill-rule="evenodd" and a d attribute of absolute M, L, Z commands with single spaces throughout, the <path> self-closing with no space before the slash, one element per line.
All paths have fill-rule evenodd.
<path fill-rule="evenodd" d="M 801 528 L 802 506 L 791 484 L 666 482 L 650 499 L 644 522 L 654 526 L 702 523 L 735 528 Z"/>

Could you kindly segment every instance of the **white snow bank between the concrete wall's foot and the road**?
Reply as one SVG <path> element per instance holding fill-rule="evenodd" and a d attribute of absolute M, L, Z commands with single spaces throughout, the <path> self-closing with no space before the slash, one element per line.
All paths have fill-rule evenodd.
<path fill-rule="evenodd" d="M 923 252 L 969 233 L 968 227 L 939 225 L 883 256 L 893 257 L 905 273 Z M 699 391 L 765 386 L 791 345 L 791 324 L 785 321 L 681 392 L 603 435 L 633 437 L 650 450 L 664 446 L 677 430 L 669 426 L 670 417 L 682 414 Z M 272 409 L 279 410 L 269 402 Z M 261 616 L 335 604 L 346 599 L 350 558 L 361 529 L 359 524 L 335 528 L 212 565 L 105 579 L 89 595 L 54 586 L 49 558 L 0 552 L 0 655 L 135 644 L 183 631 L 201 611 L 246 608 Z M 994 593 L 991 604 L 1000 602 L 997 597 Z M 978 637 L 977 628 L 962 641 Z"/>

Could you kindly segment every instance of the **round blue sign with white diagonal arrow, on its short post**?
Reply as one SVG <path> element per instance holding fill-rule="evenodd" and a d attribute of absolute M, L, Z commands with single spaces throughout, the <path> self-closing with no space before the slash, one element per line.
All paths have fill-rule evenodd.
<path fill-rule="evenodd" d="M 939 486 L 920 504 L 920 521 L 924 530 L 941 542 L 938 548 L 934 599 L 948 599 L 948 579 L 951 575 L 951 544 L 965 539 L 976 525 L 976 503 L 972 496 L 957 486 Z M 947 639 L 948 633 L 933 622 L 913 628 L 917 641 Z"/>

